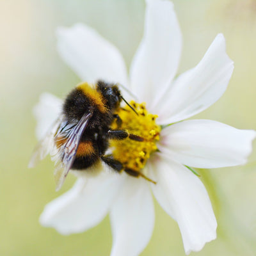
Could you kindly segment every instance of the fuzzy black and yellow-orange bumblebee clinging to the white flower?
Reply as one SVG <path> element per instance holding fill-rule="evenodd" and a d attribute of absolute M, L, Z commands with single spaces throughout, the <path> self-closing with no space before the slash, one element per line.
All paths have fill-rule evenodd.
<path fill-rule="evenodd" d="M 114 120 L 118 126 L 122 124 L 115 114 L 122 100 L 138 115 L 116 84 L 98 81 L 94 88 L 87 83 L 79 84 L 67 95 L 61 115 L 38 143 L 29 166 L 51 154 L 56 162 L 56 190 L 61 188 L 69 170 L 86 170 L 100 159 L 116 172 L 124 170 L 129 175 L 145 177 L 143 173 L 124 168 L 111 154 L 106 155 L 109 140 L 144 140 L 125 130 L 111 130 Z"/>

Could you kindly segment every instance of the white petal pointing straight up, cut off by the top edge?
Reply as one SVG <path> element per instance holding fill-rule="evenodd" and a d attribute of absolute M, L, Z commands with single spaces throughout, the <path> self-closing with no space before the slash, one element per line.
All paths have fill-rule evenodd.
<path fill-rule="evenodd" d="M 154 108 L 156 96 L 172 81 L 180 60 L 182 36 L 173 4 L 148 0 L 145 31 L 131 65 L 132 92 Z"/>

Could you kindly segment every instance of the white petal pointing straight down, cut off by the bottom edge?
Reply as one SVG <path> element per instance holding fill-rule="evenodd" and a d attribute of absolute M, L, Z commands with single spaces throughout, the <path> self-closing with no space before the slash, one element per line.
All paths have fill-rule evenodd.
<path fill-rule="evenodd" d="M 154 205 L 147 181 L 127 177 L 110 211 L 113 232 L 111 256 L 139 255 L 152 235 Z"/>

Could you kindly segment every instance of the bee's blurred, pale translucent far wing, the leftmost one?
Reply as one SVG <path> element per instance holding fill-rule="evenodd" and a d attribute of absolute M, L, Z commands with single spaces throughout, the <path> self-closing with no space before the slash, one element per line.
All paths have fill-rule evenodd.
<path fill-rule="evenodd" d="M 47 154 L 51 154 L 54 148 L 54 136 L 56 134 L 56 131 L 58 131 L 58 127 L 60 127 L 62 118 L 63 116 L 60 116 L 51 125 L 49 131 L 47 131 L 44 138 L 42 138 L 42 140 L 40 140 L 36 145 L 28 164 L 29 168 L 35 167 L 40 160 L 44 159 L 47 156 Z"/>

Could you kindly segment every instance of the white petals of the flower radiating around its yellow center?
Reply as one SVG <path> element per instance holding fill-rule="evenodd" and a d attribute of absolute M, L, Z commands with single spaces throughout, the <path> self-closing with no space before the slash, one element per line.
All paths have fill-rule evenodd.
<path fill-rule="evenodd" d="M 81 80 L 122 84 L 135 95 L 136 102 L 146 102 L 136 108 L 147 108 L 147 116 L 157 115 L 152 125 L 161 126 L 159 138 L 151 141 L 156 147 L 146 148 L 150 157 L 143 165 L 143 173 L 156 184 L 107 168 L 94 176 L 77 172 L 74 187 L 46 205 L 40 216 L 42 225 L 68 235 L 88 230 L 109 213 L 111 256 L 139 255 L 154 228 L 153 193 L 164 211 L 177 221 L 186 254 L 201 250 L 216 238 L 217 223 L 207 191 L 187 166 L 244 164 L 252 151 L 255 132 L 211 120 L 185 120 L 223 95 L 234 66 L 225 52 L 225 38 L 219 34 L 198 65 L 175 78 L 181 49 L 180 28 L 170 1 L 147 1 L 145 32 L 129 76 L 118 49 L 92 28 L 76 24 L 58 30 L 60 56 Z M 35 108 L 38 137 L 60 111 L 61 100 L 47 93 L 42 95 Z M 135 127 L 137 132 L 148 129 L 155 134 L 148 128 L 150 124 L 142 123 L 143 128 Z"/>

